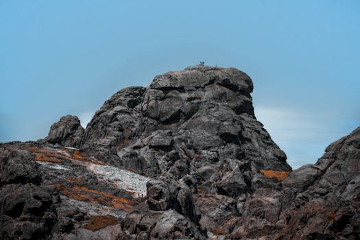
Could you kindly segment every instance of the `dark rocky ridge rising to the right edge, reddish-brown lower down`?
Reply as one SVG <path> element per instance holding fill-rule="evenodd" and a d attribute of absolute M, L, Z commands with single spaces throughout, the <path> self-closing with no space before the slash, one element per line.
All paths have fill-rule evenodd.
<path fill-rule="evenodd" d="M 283 189 L 296 191 L 284 200 L 293 206 L 279 239 L 360 239 L 360 128 L 329 145 L 315 165 L 290 173 Z"/>

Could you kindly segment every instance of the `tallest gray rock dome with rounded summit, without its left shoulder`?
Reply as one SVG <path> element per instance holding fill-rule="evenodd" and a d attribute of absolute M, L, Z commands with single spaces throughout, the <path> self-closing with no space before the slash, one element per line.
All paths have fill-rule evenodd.
<path fill-rule="evenodd" d="M 141 137 L 132 148 L 141 143 L 159 148 L 146 138 L 167 131 L 173 141 L 160 149 L 175 149 L 182 162 L 204 165 L 213 164 L 209 160 L 251 158 L 259 169 L 288 171 L 285 154 L 254 117 L 252 88 L 250 77 L 232 68 L 198 66 L 158 75 L 145 92 Z M 199 160 L 192 161 L 194 156 Z"/>

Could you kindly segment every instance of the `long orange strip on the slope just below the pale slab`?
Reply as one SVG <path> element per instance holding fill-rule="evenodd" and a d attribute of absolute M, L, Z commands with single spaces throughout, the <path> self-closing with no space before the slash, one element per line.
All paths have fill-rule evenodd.
<path fill-rule="evenodd" d="M 91 202 L 93 204 L 101 204 L 121 209 L 126 213 L 132 212 L 135 202 L 127 200 L 123 197 L 117 197 L 109 193 L 88 189 L 86 187 L 74 186 L 67 187 L 62 184 L 55 185 L 62 195 L 71 197 L 75 200 Z"/>

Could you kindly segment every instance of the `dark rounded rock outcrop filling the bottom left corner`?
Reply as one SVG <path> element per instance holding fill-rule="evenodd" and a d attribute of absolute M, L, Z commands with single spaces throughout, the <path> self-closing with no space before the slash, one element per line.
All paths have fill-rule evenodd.
<path fill-rule="evenodd" d="M 47 239 L 58 193 L 42 184 L 34 156 L 0 145 L 0 239 Z"/>

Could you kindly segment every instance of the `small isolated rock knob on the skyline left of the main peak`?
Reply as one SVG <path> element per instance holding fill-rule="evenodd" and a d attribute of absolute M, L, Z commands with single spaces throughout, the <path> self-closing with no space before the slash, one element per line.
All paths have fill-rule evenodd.
<path fill-rule="evenodd" d="M 80 147 L 82 134 L 84 134 L 84 128 L 80 125 L 80 120 L 76 116 L 67 115 L 51 125 L 45 141 L 64 147 Z"/>

